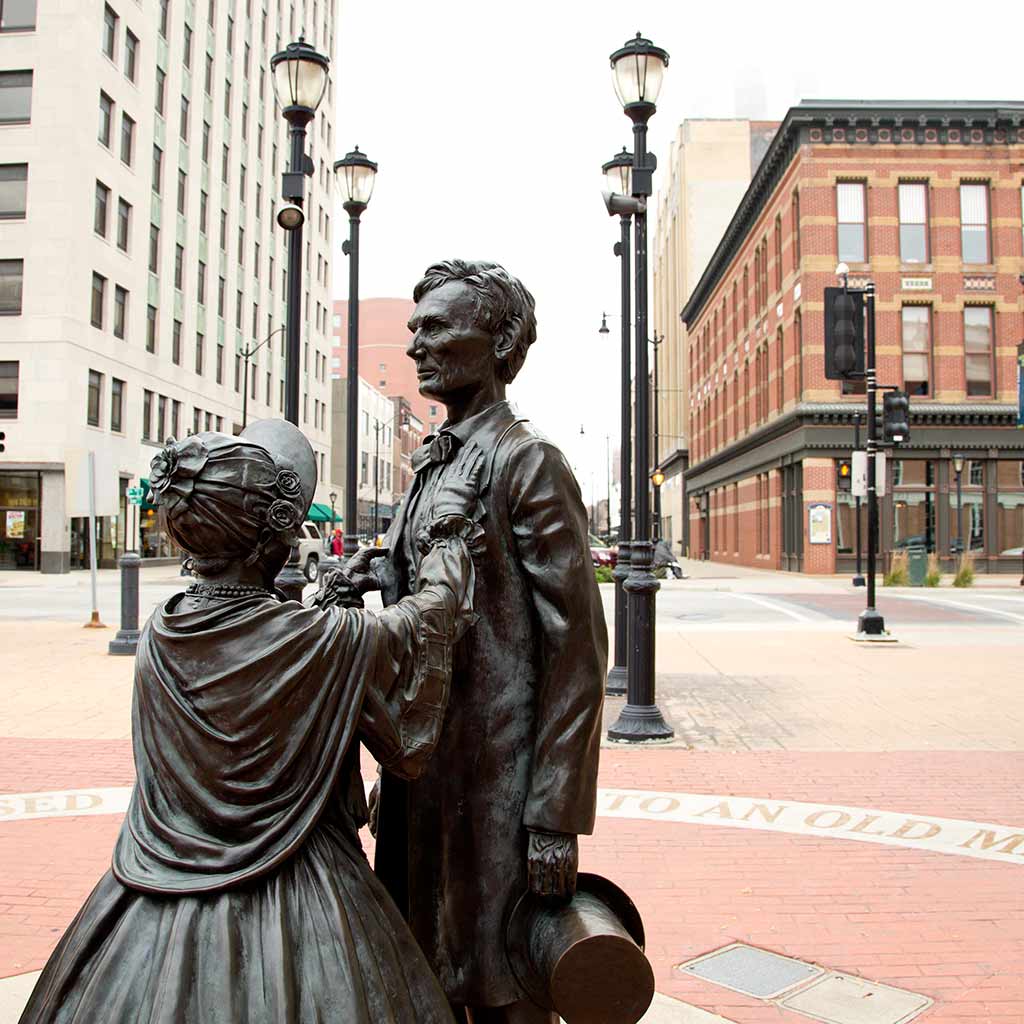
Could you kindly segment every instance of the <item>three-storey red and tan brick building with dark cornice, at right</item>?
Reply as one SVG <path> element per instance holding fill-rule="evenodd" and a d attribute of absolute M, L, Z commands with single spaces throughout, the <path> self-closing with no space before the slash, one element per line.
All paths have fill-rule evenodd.
<path fill-rule="evenodd" d="M 1020 571 L 1022 199 L 1024 103 L 788 112 L 680 314 L 691 555 L 852 567 L 854 504 L 837 493 L 836 466 L 863 386 L 825 380 L 822 313 L 844 261 L 851 286 L 876 285 L 880 384 L 911 395 L 909 443 L 887 466 L 883 552 L 956 549 L 961 453 L 964 544 L 981 571 Z"/>

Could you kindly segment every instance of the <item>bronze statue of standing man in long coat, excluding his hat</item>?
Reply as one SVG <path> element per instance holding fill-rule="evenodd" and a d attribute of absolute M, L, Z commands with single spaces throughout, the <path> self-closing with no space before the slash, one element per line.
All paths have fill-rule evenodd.
<path fill-rule="evenodd" d="M 383 773 L 376 869 L 458 1018 L 547 1024 L 505 930 L 527 890 L 572 895 L 577 837 L 594 825 L 607 637 L 587 515 L 561 452 L 505 398 L 537 337 L 529 292 L 495 263 L 451 260 L 413 298 L 409 355 L 447 419 L 414 455 L 379 568 L 385 603 L 410 592 L 417 538 L 466 445 L 485 459 L 486 537 L 437 754 L 416 781 Z"/>

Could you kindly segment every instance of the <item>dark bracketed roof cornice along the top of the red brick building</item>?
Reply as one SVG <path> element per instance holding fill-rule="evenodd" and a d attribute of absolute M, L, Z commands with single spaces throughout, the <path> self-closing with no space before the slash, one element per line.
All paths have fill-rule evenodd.
<path fill-rule="evenodd" d="M 807 99 L 792 106 L 679 318 L 700 315 L 805 143 L 1010 145 L 1024 143 L 1024 102 Z"/>

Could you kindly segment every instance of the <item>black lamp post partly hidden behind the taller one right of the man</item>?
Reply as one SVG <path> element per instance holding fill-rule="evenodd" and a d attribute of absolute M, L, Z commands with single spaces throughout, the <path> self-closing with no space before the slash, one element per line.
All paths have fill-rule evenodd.
<path fill-rule="evenodd" d="M 629 648 L 629 617 L 626 608 L 626 591 L 623 585 L 630 574 L 630 540 L 633 537 L 633 506 L 630 492 L 633 488 L 633 403 L 630 392 L 630 317 L 632 313 L 632 298 L 630 295 L 630 218 L 636 207 L 633 196 L 633 154 L 623 146 L 622 153 L 616 153 L 606 164 L 601 165 L 604 180 L 607 185 L 605 205 L 609 215 L 618 207 L 620 240 L 615 243 L 613 252 L 618 257 L 621 283 L 620 301 L 622 311 L 618 314 L 622 326 L 622 355 L 620 360 L 620 486 L 622 498 L 618 505 L 618 557 L 615 560 L 615 648 L 613 664 L 608 672 L 605 693 L 611 696 L 622 696 L 626 692 L 626 662 Z M 616 203 L 615 200 L 620 202 Z M 614 314 L 612 314 L 614 315 Z M 601 313 L 601 334 L 608 333 L 608 323 L 605 313 Z"/>

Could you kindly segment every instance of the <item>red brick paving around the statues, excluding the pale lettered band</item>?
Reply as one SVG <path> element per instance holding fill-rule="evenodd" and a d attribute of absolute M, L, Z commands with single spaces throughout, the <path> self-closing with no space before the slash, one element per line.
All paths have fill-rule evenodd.
<path fill-rule="evenodd" d="M 127 784 L 126 742 L 0 740 L 0 793 Z M 607 750 L 601 784 L 1024 821 L 1024 755 Z M 115 816 L 0 822 L 0 976 L 41 966 Z M 931 1024 L 1024 1021 L 1024 866 L 835 838 L 599 818 L 584 866 L 643 913 L 657 988 L 741 1024 L 806 1018 L 673 968 L 734 941 L 932 996 Z"/>

